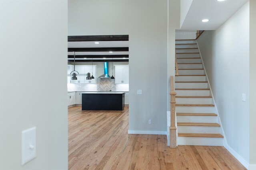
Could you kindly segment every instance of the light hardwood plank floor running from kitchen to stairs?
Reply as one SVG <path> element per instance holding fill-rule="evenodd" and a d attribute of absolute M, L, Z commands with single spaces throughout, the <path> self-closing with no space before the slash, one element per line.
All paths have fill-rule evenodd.
<path fill-rule="evenodd" d="M 70 170 L 243 170 L 224 147 L 166 146 L 166 135 L 128 135 L 123 111 L 68 109 Z"/>

